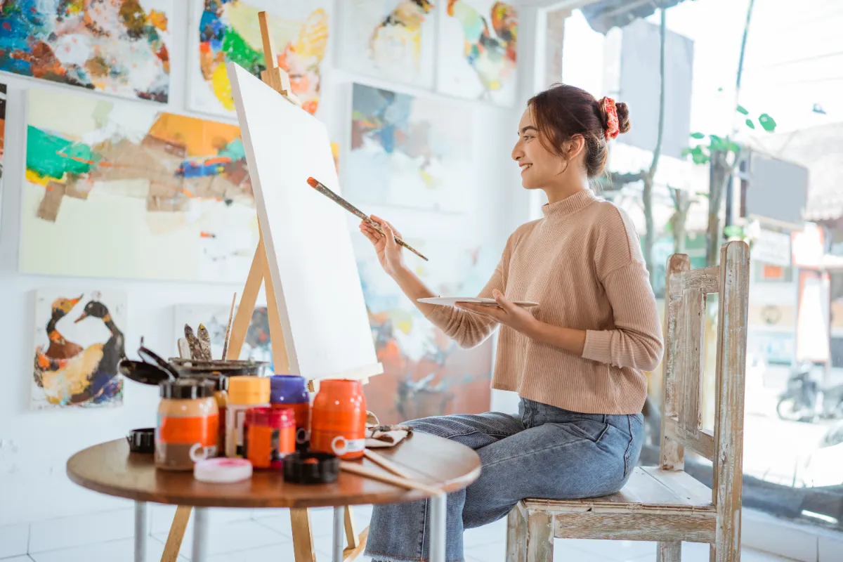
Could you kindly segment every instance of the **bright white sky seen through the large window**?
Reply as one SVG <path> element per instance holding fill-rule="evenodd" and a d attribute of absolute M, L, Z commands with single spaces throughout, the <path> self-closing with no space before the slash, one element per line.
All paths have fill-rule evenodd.
<path fill-rule="evenodd" d="M 749 0 L 686 0 L 668 9 L 668 29 L 694 40 L 691 131 L 724 134 L 732 126 L 748 6 Z M 647 20 L 658 24 L 658 13 Z M 840 0 L 755 0 L 740 104 L 752 115 L 772 115 L 779 131 L 843 121 L 841 27 Z M 604 69 L 593 62 L 602 60 L 603 48 L 603 35 L 576 11 L 566 22 L 563 80 L 602 93 Z M 814 113 L 814 104 L 826 115 Z"/>

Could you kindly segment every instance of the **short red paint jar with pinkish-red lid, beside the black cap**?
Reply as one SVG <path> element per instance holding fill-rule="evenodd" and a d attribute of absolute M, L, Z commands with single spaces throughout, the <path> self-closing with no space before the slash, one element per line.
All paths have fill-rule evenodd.
<path fill-rule="evenodd" d="M 250 408 L 246 411 L 243 455 L 255 468 L 283 468 L 296 452 L 296 418 L 291 409 Z"/>

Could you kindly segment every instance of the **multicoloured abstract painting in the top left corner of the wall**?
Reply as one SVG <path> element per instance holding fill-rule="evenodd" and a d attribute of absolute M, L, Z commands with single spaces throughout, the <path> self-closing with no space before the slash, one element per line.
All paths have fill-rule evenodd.
<path fill-rule="evenodd" d="M 0 70 L 167 103 L 172 0 L 0 2 Z"/>

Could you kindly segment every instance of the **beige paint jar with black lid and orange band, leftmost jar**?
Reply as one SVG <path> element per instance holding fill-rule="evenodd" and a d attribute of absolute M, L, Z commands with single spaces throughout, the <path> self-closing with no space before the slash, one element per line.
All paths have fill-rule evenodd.
<path fill-rule="evenodd" d="M 155 429 L 155 466 L 193 470 L 205 458 L 217 456 L 219 409 L 210 381 L 164 381 Z"/>

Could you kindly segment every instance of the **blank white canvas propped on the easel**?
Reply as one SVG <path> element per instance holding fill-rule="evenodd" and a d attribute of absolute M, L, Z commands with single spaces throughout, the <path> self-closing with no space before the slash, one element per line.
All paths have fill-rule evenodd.
<path fill-rule="evenodd" d="M 348 211 L 307 184 L 341 193 L 325 125 L 234 63 L 228 76 L 291 372 L 379 374 Z"/>

